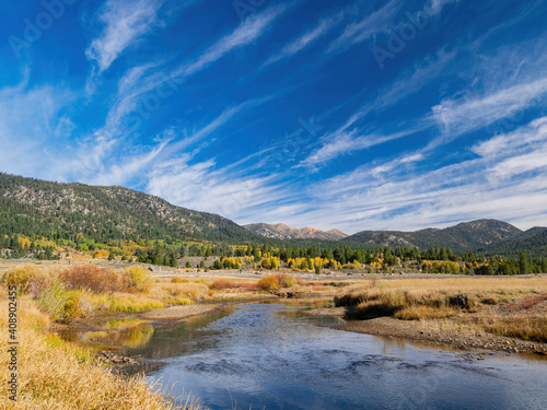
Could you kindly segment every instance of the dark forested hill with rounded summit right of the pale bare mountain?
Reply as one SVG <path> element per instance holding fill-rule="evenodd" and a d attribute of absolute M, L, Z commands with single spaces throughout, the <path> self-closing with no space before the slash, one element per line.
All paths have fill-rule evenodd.
<path fill-rule="evenodd" d="M 348 244 L 374 246 L 450 247 L 453 251 L 493 251 L 493 244 L 522 234 L 517 227 L 497 220 L 477 220 L 442 230 L 427 229 L 416 232 L 362 231 L 342 239 Z"/>

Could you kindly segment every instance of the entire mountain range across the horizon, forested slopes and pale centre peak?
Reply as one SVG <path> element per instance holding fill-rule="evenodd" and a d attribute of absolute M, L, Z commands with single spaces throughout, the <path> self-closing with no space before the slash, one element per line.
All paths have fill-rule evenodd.
<path fill-rule="evenodd" d="M 547 227 L 522 231 L 507 222 L 477 220 L 415 232 L 361 231 L 351 236 L 284 224 L 240 226 L 223 216 L 173 206 L 124 187 L 59 184 L 0 174 L 0 234 L 105 238 L 162 238 L 280 244 L 304 241 L 336 247 L 450 247 L 453 251 L 547 255 Z"/>

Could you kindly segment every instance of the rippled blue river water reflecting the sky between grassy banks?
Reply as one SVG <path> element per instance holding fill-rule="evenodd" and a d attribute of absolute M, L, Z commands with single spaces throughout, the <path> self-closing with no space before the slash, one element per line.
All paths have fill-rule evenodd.
<path fill-rule="evenodd" d="M 151 383 L 210 409 L 547 409 L 547 361 L 331 329 L 302 307 L 251 304 L 156 329 L 133 356 Z M 475 356 L 476 358 L 476 356 Z"/>

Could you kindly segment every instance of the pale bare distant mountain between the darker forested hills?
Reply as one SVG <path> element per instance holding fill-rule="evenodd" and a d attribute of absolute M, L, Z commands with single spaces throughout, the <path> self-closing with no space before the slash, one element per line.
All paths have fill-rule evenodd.
<path fill-rule="evenodd" d="M 248 225 L 244 225 L 244 227 L 256 235 L 276 239 L 338 241 L 348 236 L 344 232 L 340 232 L 338 230 L 330 230 L 324 232 L 310 226 L 295 229 L 282 223 L 278 224 L 252 223 Z"/>

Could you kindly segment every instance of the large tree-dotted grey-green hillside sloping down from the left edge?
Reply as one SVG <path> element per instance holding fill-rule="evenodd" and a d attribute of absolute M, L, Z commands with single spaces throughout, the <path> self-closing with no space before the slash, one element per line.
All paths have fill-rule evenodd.
<path fill-rule="evenodd" d="M 0 234 L 246 242 L 255 235 L 217 214 L 123 187 L 58 184 L 0 174 Z"/>

